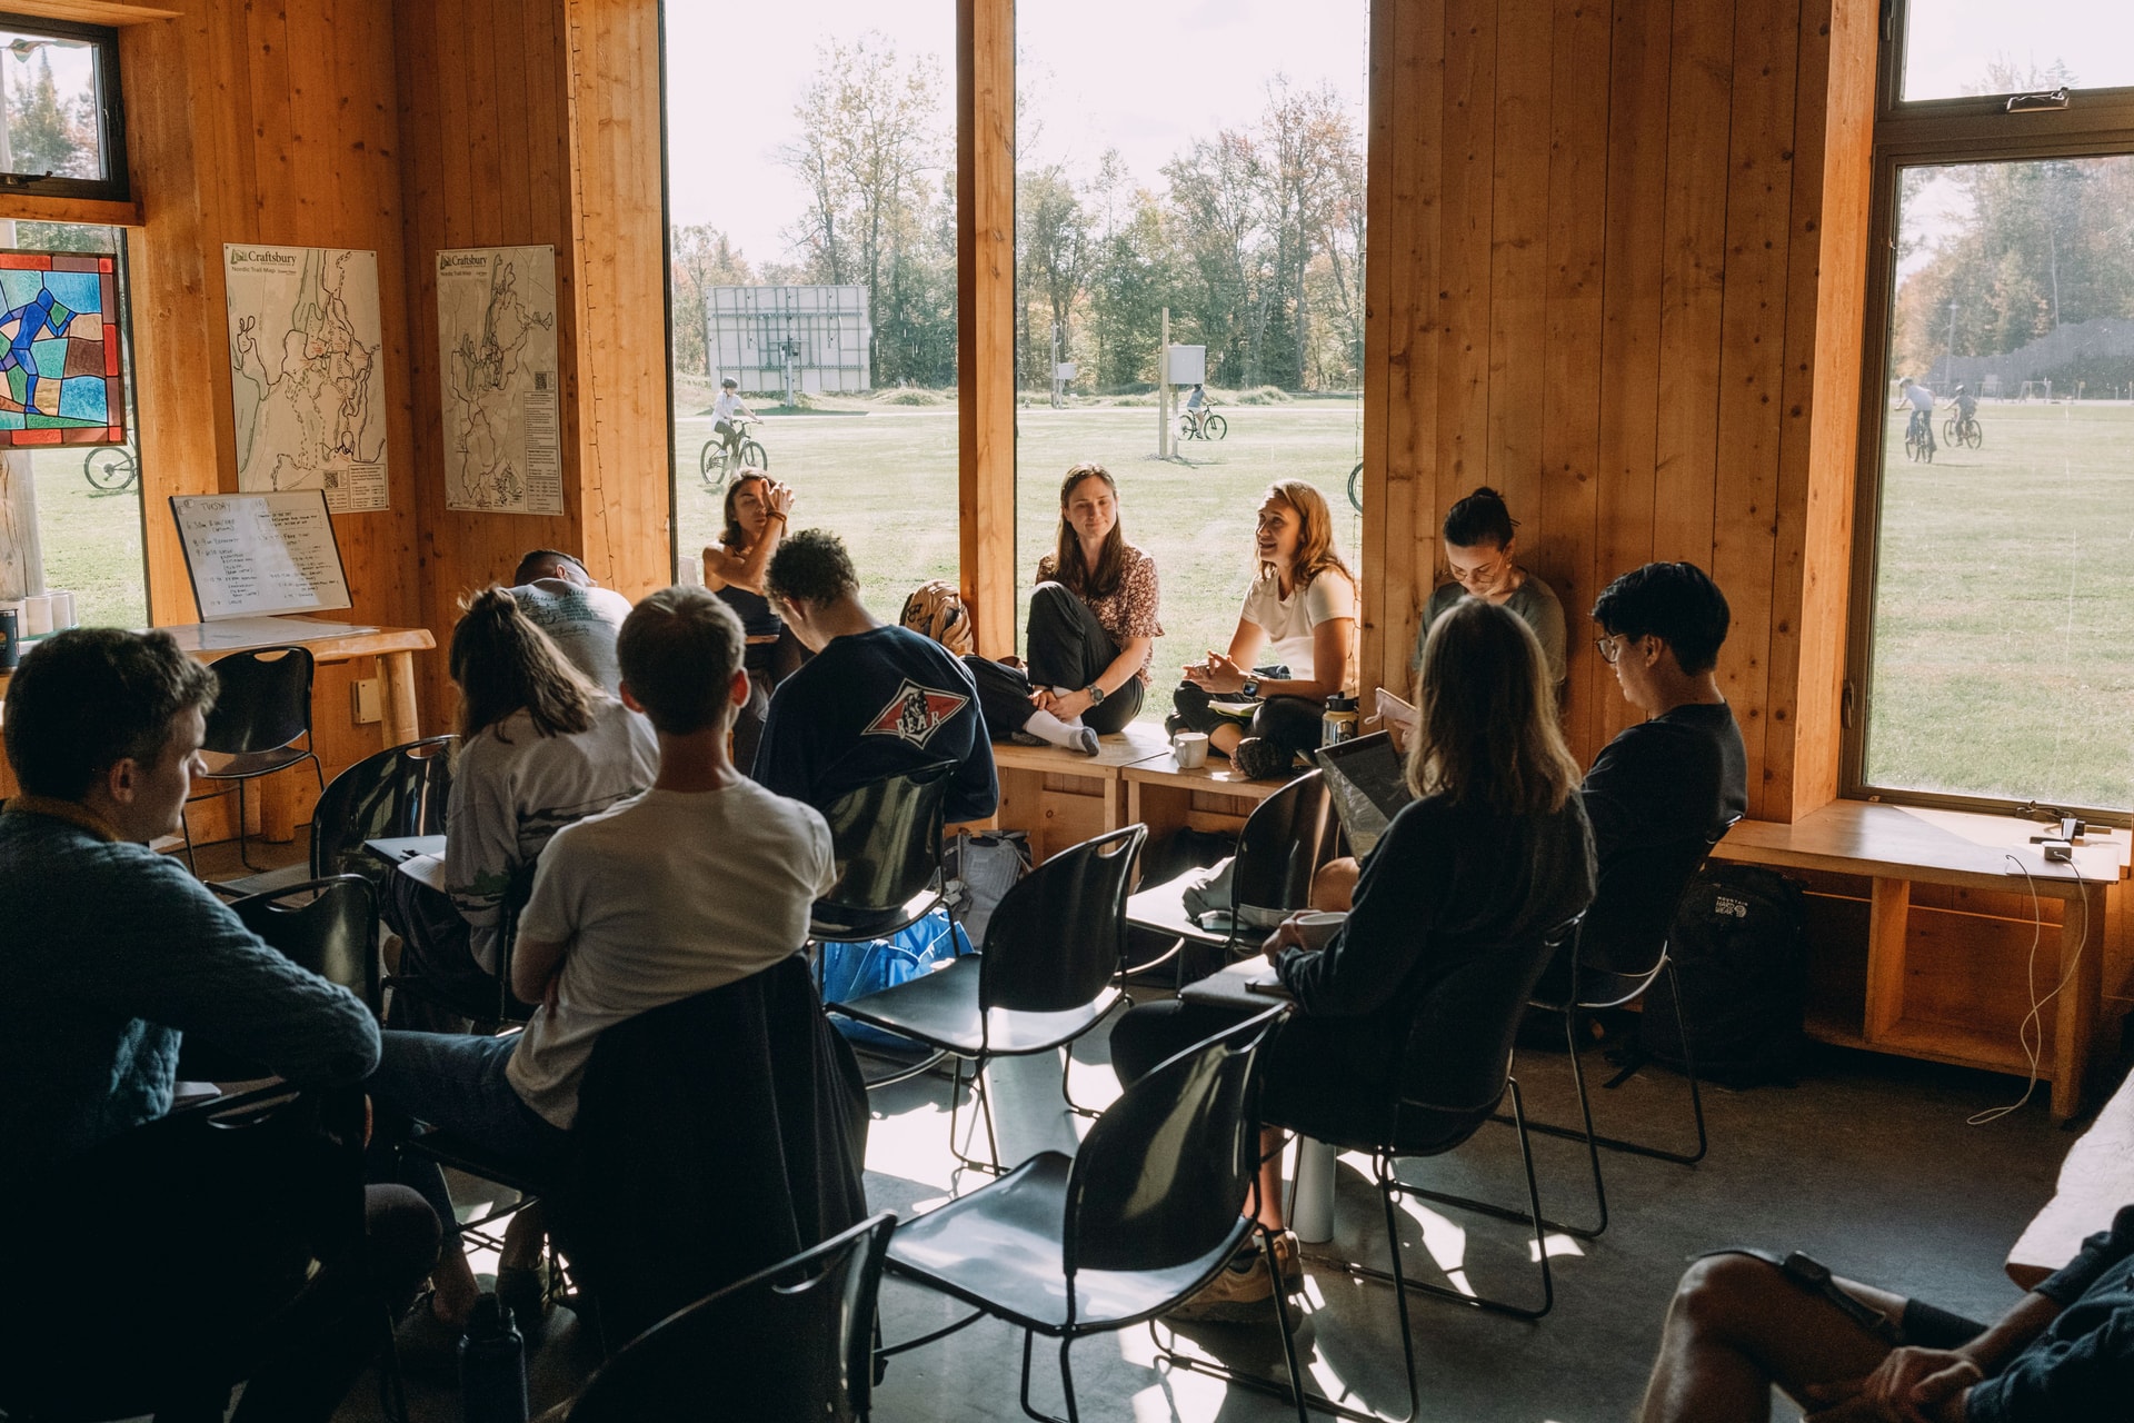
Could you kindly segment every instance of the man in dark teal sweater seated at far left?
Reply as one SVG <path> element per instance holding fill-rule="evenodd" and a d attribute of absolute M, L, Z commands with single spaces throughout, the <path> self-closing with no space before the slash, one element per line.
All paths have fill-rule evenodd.
<path fill-rule="evenodd" d="M 356 994 L 292 964 L 149 849 L 179 828 L 213 700 L 216 674 L 171 634 L 115 627 L 51 636 L 9 683 L 6 757 L 21 794 L 0 815 L 0 1071 L 13 1084 L 0 1094 L 0 1197 L 34 1195 L 47 1167 L 166 1116 L 181 1048 L 297 1086 L 352 1088 L 378 1060 L 378 1024 Z M 158 1404 L 164 1423 L 222 1423 L 235 1380 L 203 1376 L 203 1348 L 262 1353 L 237 1421 L 324 1421 L 378 1353 L 376 1321 L 437 1254 L 429 1205 L 405 1186 L 371 1186 L 367 1269 L 327 1261 L 301 1308 L 282 1314 L 303 1274 L 260 1278 L 252 1308 L 241 1299 L 252 1280 L 222 1276 L 239 1269 L 239 1242 L 218 1240 L 222 1254 L 198 1265 L 218 1276 L 218 1312 L 181 1314 L 207 1308 L 186 1274 L 203 1246 L 188 1233 L 196 1222 L 169 1220 L 158 1184 L 137 1184 L 139 1210 L 124 1218 L 17 1220 L 11 1259 L 28 1269 L 26 1252 L 64 1250 L 64 1267 L 11 1291 L 9 1389 L 53 1368 L 87 1385 L 94 1370 L 122 1393 L 186 1393 Z M 286 1225 L 262 1220 L 262 1242 L 273 1229 Z M 113 1308 L 158 1291 L 171 1308 Z"/>

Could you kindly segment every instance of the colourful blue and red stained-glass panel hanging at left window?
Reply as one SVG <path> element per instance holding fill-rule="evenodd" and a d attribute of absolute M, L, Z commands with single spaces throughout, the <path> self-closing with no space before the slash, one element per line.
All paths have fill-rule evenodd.
<path fill-rule="evenodd" d="M 0 252 L 0 448 L 126 444 L 115 267 Z"/>

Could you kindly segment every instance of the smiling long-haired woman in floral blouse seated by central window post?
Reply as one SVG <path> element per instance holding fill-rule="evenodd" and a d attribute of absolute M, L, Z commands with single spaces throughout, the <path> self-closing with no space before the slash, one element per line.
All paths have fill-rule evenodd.
<path fill-rule="evenodd" d="M 1161 636 L 1157 561 L 1118 527 L 1118 480 L 1076 465 L 1061 484 L 1058 546 L 1037 561 L 1031 593 L 1031 702 L 1069 728 L 1120 730 L 1142 710 Z"/>

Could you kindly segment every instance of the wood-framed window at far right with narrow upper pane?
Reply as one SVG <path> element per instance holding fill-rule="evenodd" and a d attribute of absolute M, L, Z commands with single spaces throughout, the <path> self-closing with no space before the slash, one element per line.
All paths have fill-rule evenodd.
<path fill-rule="evenodd" d="M 1854 789 L 2134 806 L 2134 15 L 1912 0 L 1876 128 Z M 2021 26 L 2021 34 L 2010 28 Z"/>

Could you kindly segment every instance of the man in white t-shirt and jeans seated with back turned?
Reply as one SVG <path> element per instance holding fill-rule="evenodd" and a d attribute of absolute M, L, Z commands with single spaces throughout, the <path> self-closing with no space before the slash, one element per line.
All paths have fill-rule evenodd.
<path fill-rule="evenodd" d="M 728 757 L 728 725 L 749 698 L 740 649 L 740 621 L 704 589 L 662 589 L 632 610 L 615 651 L 623 700 L 657 730 L 657 779 L 566 826 L 542 856 L 512 956 L 512 992 L 540 1005 L 525 1033 L 386 1033 L 369 1080 L 382 1107 L 538 1169 L 568 1139 L 604 1030 L 800 952 L 809 909 L 837 881 L 830 826 Z M 401 1176 L 452 1218 L 435 1163 L 410 1154 Z M 523 1218 L 506 1240 L 499 1295 L 523 1293 L 506 1284 L 531 1276 L 538 1257 Z M 446 1250 L 433 1282 L 416 1329 L 457 1338 L 474 1272 Z"/>

